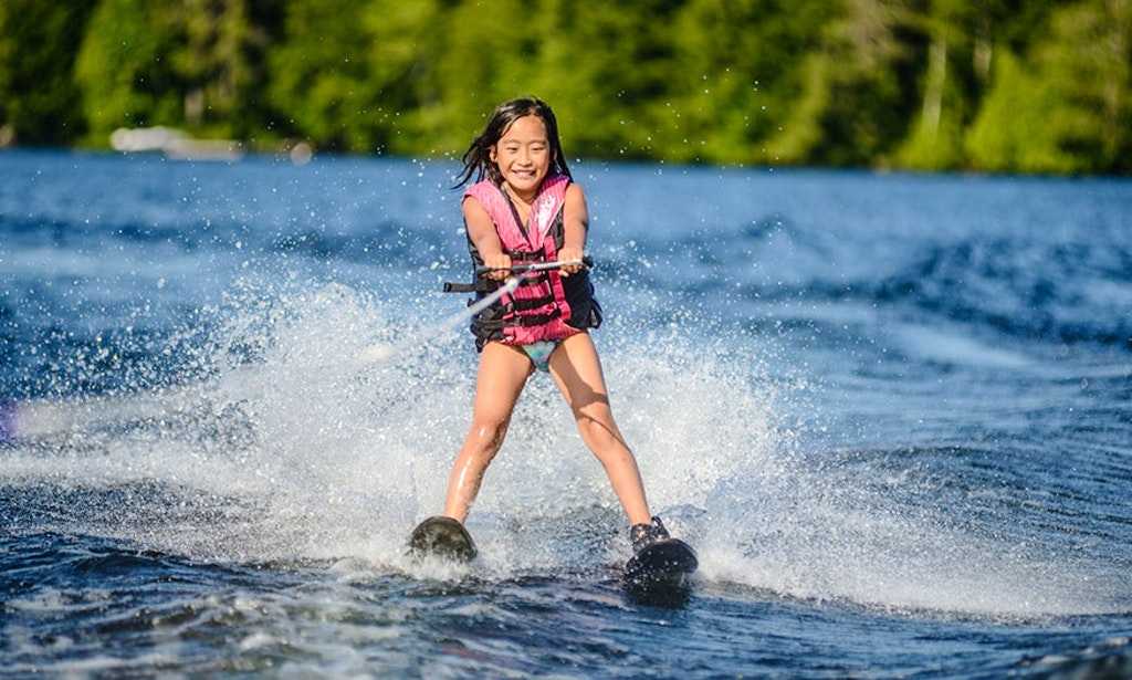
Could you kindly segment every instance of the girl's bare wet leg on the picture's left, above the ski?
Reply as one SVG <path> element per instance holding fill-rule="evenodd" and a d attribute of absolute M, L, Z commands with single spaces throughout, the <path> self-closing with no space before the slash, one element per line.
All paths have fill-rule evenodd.
<path fill-rule="evenodd" d="M 475 379 L 472 427 L 448 474 L 448 496 L 444 502 L 444 514 L 448 517 L 457 522 L 468 517 L 483 473 L 503 446 L 511 412 L 530 375 L 531 360 L 522 350 L 501 343 L 483 347 Z"/>

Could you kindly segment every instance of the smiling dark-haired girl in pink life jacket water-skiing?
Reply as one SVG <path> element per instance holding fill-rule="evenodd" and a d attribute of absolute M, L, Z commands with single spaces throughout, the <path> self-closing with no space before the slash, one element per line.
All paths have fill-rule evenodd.
<path fill-rule="evenodd" d="M 500 104 L 463 162 L 456 186 L 472 175 L 477 180 L 463 199 L 468 247 L 474 265 L 491 268 L 488 287 L 509 276 L 513 264 L 569 264 L 525 277 L 512 294 L 473 318 L 480 351 L 475 403 L 448 477 L 444 515 L 461 524 L 468 517 L 523 385 L 538 369 L 554 378 L 582 440 L 604 466 L 628 515 L 634 551 L 667 539 L 663 524 L 650 516 L 636 459 L 614 422 L 588 333 L 601 324 L 601 308 L 580 265 L 589 215 L 582 187 L 572 182 L 566 166 L 554 112 L 533 97 Z"/>

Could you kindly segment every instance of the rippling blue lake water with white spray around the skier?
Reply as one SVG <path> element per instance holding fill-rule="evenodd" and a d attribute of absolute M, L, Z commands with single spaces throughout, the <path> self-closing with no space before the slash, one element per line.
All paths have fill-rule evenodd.
<path fill-rule="evenodd" d="M 0 154 L 0 674 L 1132 674 L 1132 182 L 576 163 L 660 605 L 541 375 L 481 559 L 403 556 L 454 171 Z"/>

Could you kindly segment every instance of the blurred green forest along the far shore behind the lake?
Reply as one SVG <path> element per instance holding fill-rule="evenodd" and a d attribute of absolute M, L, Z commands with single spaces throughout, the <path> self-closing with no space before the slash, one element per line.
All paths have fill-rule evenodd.
<path fill-rule="evenodd" d="M 582 157 L 1126 174 L 1132 0 L 0 0 L 0 146 L 452 156 L 523 94 Z"/>

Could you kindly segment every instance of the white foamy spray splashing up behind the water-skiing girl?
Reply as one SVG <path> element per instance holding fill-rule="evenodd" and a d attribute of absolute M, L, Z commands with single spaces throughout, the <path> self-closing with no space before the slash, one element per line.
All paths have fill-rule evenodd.
<path fill-rule="evenodd" d="M 245 282 L 192 348 L 195 380 L 9 414 L 23 438 L 0 482 L 78 492 L 79 505 L 55 508 L 40 528 L 194 559 L 460 577 L 403 553 L 410 527 L 443 507 L 475 355 L 456 336 L 375 352 L 427 335 L 395 321 L 408 313 L 340 284 Z M 963 508 L 901 505 L 861 476 L 881 472 L 830 470 L 799 453 L 787 414 L 805 399 L 767 378 L 772 358 L 756 338 L 705 341 L 684 327 L 601 334 L 614 410 L 653 509 L 698 546 L 702 578 L 897 610 L 1127 609 L 1126 584 L 1103 569 L 995 540 L 993 527 L 972 533 Z M 112 510 L 82 505 L 106 491 L 119 493 Z M 470 528 L 483 556 L 473 569 L 491 578 L 603 568 L 627 554 L 604 474 L 544 376 L 516 408 Z"/>

